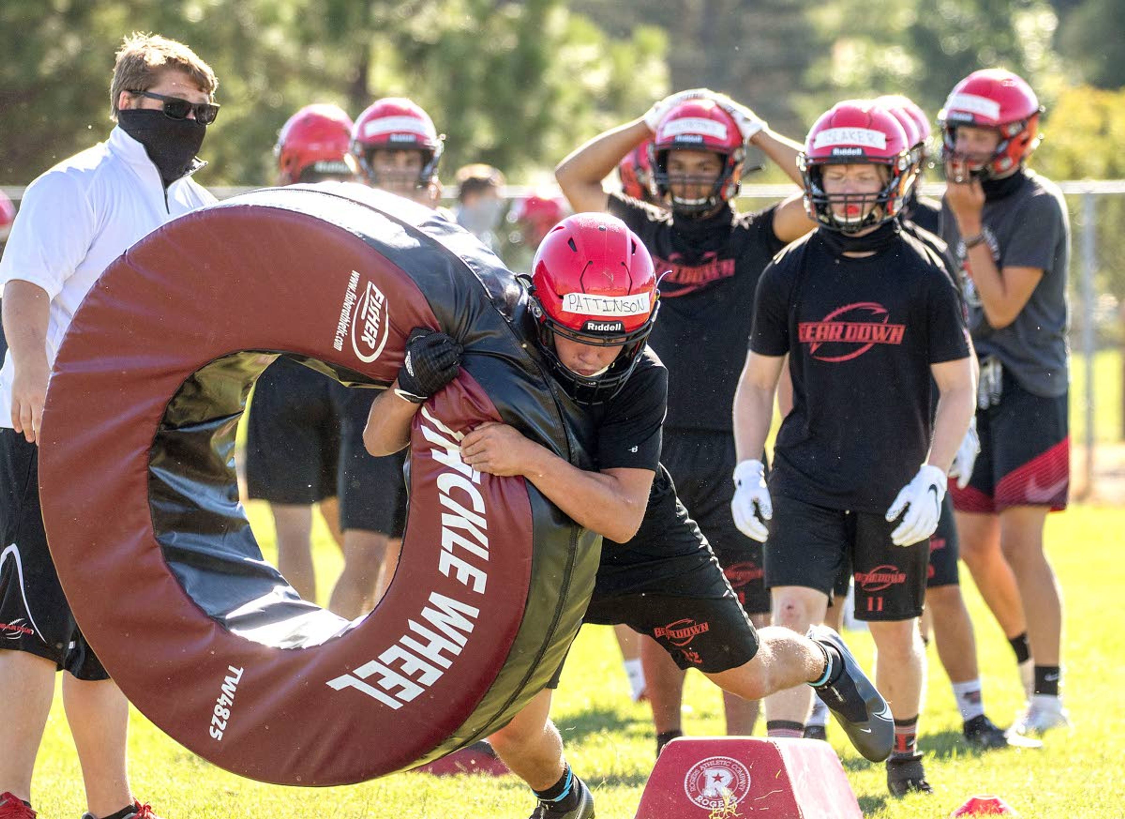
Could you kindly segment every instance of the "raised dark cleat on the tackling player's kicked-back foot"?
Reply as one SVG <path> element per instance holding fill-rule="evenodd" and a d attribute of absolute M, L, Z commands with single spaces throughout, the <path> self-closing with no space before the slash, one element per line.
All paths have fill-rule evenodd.
<path fill-rule="evenodd" d="M 834 629 L 813 626 L 808 636 L 821 646 L 831 646 L 844 659 L 839 680 L 813 691 L 832 712 L 855 749 L 871 762 L 882 762 L 894 747 L 894 718 L 890 705 Z"/>

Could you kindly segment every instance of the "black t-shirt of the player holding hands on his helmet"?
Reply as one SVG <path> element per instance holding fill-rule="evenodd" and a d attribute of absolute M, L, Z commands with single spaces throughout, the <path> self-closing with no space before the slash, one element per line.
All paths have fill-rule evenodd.
<path fill-rule="evenodd" d="M 609 212 L 652 254 L 660 314 L 649 344 L 668 368 L 668 429 L 731 431 L 758 277 L 784 246 L 773 231 L 775 207 L 752 214 L 722 208 L 705 219 L 610 195 Z"/>

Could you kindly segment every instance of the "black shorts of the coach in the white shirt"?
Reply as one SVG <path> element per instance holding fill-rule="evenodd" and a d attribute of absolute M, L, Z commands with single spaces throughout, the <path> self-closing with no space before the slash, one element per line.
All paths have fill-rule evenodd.
<path fill-rule="evenodd" d="M 74 622 L 47 549 L 38 448 L 8 428 L 0 429 L 0 648 L 45 657 L 79 680 L 108 680 Z"/>

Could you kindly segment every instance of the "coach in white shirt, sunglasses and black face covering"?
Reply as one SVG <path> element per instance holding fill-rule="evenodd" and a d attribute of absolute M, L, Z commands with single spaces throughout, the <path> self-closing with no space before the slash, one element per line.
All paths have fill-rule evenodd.
<path fill-rule="evenodd" d="M 83 297 L 127 248 L 215 198 L 190 179 L 215 73 L 190 48 L 125 39 L 110 86 L 109 138 L 55 165 L 25 192 L 0 261 L 0 819 L 32 819 L 32 773 L 63 675 L 66 718 L 86 785 L 83 819 L 155 819 L 126 774 L 128 703 L 86 644 L 47 551 L 36 441 L 58 344 Z M 6 649 L 6 650 L 3 650 Z"/>

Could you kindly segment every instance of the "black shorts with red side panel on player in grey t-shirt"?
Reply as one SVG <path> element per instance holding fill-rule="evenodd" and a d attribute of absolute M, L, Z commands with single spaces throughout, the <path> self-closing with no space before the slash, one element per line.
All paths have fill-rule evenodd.
<path fill-rule="evenodd" d="M 1004 372 L 1000 403 L 976 411 L 981 451 L 969 486 L 950 482 L 958 512 L 996 514 L 1009 506 L 1066 508 L 1070 492 L 1069 398 L 1028 393 Z"/>

